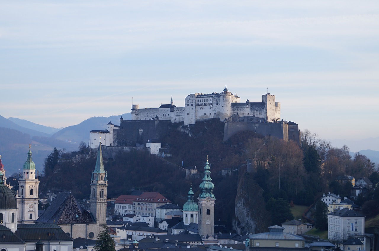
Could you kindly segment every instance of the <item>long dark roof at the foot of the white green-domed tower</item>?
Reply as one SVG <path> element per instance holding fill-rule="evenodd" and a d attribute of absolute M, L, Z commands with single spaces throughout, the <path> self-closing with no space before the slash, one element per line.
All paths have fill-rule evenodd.
<path fill-rule="evenodd" d="M 60 226 L 50 223 L 18 224 L 15 234 L 25 242 L 72 241 Z"/>

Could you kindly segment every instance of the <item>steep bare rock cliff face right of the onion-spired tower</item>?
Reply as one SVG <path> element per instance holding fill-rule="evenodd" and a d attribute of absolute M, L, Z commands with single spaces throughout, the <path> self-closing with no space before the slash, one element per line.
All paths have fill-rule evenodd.
<path fill-rule="evenodd" d="M 269 212 L 265 208 L 263 190 L 255 182 L 252 174 L 245 172 L 241 175 L 237 191 L 233 229 L 241 235 L 245 235 L 246 232 L 264 232 L 270 223 Z"/>

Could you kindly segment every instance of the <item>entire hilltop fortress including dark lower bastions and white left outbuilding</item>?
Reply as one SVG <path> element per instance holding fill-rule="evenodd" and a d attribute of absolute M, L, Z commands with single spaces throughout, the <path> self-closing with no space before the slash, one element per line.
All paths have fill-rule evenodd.
<path fill-rule="evenodd" d="M 148 140 L 160 140 L 169 130 L 170 123 L 180 123 L 188 130 L 196 122 L 219 119 L 224 122 L 224 140 L 235 133 L 252 131 L 271 135 L 283 140 L 300 143 L 298 124 L 280 118 L 280 102 L 275 95 L 262 95 L 262 102 L 240 102 L 240 97 L 226 87 L 220 93 L 193 93 L 185 97 L 184 107 L 176 107 L 171 97 L 170 104 L 159 108 L 139 108 L 132 105 L 132 120 L 120 118 L 120 125 L 109 122 L 106 130 L 92 130 L 89 146 L 96 146 L 99 137 L 103 145 L 114 147 L 144 147 Z"/>

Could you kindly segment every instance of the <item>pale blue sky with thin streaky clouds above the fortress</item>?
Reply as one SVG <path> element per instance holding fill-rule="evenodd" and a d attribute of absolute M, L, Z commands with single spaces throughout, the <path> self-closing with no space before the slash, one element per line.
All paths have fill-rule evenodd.
<path fill-rule="evenodd" d="M 225 86 L 324 139 L 378 137 L 378 1 L 2 1 L 0 115 L 66 127 Z"/>

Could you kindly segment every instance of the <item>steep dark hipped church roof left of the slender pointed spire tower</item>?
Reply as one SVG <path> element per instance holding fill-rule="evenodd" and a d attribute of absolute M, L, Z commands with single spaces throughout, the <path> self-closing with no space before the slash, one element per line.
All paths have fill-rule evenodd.
<path fill-rule="evenodd" d="M 83 209 L 69 192 L 60 192 L 36 222 L 55 224 L 96 223 L 91 213 Z"/>

